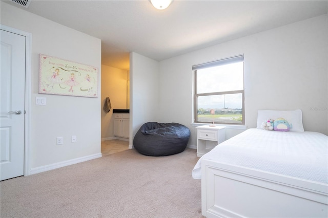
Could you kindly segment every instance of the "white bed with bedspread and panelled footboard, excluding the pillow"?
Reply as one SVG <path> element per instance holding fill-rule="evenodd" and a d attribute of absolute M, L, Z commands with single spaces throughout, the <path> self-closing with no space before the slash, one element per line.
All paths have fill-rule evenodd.
<path fill-rule="evenodd" d="M 296 128 L 295 128 L 296 129 Z M 328 137 L 248 129 L 202 156 L 207 217 L 328 217 Z"/>

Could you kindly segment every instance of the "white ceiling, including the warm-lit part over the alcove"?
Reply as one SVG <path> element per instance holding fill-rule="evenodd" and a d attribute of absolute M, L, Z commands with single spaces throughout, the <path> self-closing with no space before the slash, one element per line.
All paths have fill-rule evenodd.
<path fill-rule="evenodd" d="M 129 52 L 163 60 L 322 14 L 328 1 L 32 1 L 19 8 L 101 39 L 101 62 L 129 69 Z"/>

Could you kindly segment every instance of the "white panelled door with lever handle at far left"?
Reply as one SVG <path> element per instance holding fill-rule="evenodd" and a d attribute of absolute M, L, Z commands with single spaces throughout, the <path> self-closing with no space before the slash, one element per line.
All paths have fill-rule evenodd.
<path fill-rule="evenodd" d="M 0 174 L 24 175 L 26 37 L 1 30 Z"/>

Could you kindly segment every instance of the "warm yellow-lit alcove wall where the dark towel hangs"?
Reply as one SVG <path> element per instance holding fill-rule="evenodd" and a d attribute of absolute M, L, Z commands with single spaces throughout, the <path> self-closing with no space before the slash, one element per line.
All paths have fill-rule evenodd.
<path fill-rule="evenodd" d="M 101 108 L 110 98 L 109 113 L 101 110 L 101 140 L 114 139 L 113 109 L 129 109 L 127 104 L 128 71 L 101 65 Z"/>

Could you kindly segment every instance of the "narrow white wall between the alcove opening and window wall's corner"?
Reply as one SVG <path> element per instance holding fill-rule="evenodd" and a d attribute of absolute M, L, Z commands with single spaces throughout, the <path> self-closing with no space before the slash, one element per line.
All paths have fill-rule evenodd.
<path fill-rule="evenodd" d="M 159 120 L 158 72 L 158 61 L 130 53 L 130 147 L 142 124 Z"/>

